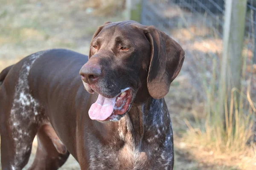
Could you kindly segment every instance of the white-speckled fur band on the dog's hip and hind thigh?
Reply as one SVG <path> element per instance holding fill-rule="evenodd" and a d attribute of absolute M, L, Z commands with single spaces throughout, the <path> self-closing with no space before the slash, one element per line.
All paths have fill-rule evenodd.
<path fill-rule="evenodd" d="M 31 140 L 31 132 L 28 130 L 30 125 L 37 122 L 39 103 L 29 94 L 28 76 L 29 71 L 38 57 L 45 51 L 32 54 L 23 62 L 20 69 L 19 79 L 15 87 L 15 96 L 10 113 L 10 127 L 15 142 L 15 162 L 12 162 L 12 170 L 15 170 L 23 156 L 30 152 L 31 147 L 24 141 Z M 26 123 L 26 125 L 24 125 Z"/>

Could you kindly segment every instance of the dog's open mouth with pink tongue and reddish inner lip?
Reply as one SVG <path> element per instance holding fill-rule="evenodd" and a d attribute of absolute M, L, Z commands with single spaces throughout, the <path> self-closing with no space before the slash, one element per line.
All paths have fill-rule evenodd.
<path fill-rule="evenodd" d="M 99 121 L 118 121 L 131 106 L 131 88 L 125 88 L 119 95 L 107 98 L 99 94 L 98 99 L 89 109 L 90 119 Z"/>

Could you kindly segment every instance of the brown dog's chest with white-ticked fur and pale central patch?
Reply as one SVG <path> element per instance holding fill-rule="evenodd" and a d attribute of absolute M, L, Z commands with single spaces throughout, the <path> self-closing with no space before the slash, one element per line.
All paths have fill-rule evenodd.
<path fill-rule="evenodd" d="M 95 147 L 97 151 L 91 156 L 91 169 L 172 169 L 172 127 L 170 118 L 166 115 L 165 113 L 154 115 L 152 119 L 157 120 L 144 127 L 144 135 L 140 136 L 140 139 L 136 137 L 138 128 L 134 132 L 121 120 L 111 143 L 107 147 L 102 145 Z"/>

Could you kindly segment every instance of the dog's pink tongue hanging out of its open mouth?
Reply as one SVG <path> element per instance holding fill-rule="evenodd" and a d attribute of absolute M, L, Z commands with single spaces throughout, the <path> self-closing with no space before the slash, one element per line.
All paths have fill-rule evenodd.
<path fill-rule="evenodd" d="M 114 110 L 116 97 L 108 99 L 99 94 L 98 99 L 89 109 L 89 116 L 92 120 L 106 120 Z"/>

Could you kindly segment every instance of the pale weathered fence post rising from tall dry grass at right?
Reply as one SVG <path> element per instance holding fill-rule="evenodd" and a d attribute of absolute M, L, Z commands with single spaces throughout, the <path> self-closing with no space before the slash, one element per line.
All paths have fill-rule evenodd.
<path fill-rule="evenodd" d="M 223 54 L 221 62 L 221 80 L 219 85 L 219 113 L 224 113 L 224 101 L 233 88 L 240 90 L 242 49 L 247 0 L 226 0 L 224 14 Z M 239 102 L 237 95 L 236 101 Z M 220 116 L 223 117 L 224 115 Z"/>

